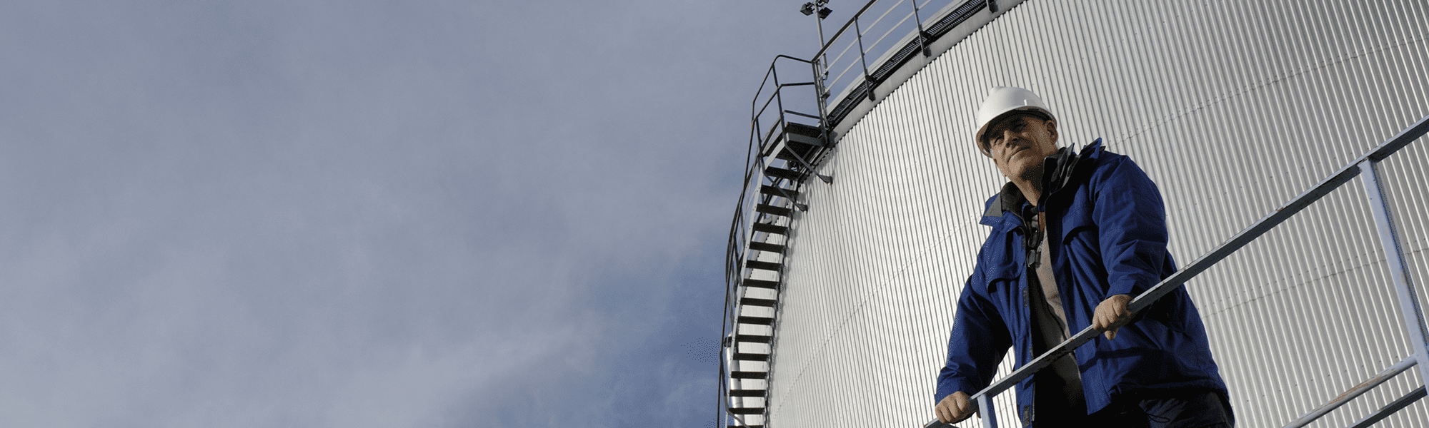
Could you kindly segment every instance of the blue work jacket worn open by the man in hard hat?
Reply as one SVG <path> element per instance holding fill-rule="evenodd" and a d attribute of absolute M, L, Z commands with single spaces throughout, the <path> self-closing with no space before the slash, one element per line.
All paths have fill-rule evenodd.
<path fill-rule="evenodd" d="M 1100 143 L 1082 150 L 1075 167 L 1059 174 L 1052 174 L 1056 158 L 1049 157 L 1043 188 L 1052 191 L 1036 205 L 1046 211 L 1052 270 L 1070 334 L 1090 325 L 1096 305 L 1107 297 L 1136 297 L 1176 271 L 1166 251 L 1160 191 L 1130 158 L 1103 150 Z M 1026 264 L 1020 211 L 1013 211 L 1026 204 L 1010 183 L 987 200 L 982 224 L 992 233 L 957 300 L 935 404 L 955 391 L 972 395 L 986 388 L 1007 348 L 1016 351 L 1016 367 L 1037 357 L 1032 352 L 1027 297 L 1040 298 L 1042 291 L 1027 287 L 1026 277 L 1035 272 Z M 1218 391 L 1226 399 L 1206 328 L 1185 288 L 1136 317 L 1116 340 L 1097 335 L 1076 348 L 1087 414 L 1120 397 Z M 1015 387 L 1025 424 L 1035 415 L 1032 381 L 1029 377 Z"/>

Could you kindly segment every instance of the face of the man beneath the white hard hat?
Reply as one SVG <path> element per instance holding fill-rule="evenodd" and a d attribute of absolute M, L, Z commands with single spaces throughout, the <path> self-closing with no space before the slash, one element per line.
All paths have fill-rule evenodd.
<path fill-rule="evenodd" d="M 1003 175 L 1040 183 L 1042 158 L 1057 153 L 1057 123 L 1036 114 L 1012 114 L 989 126 L 983 138 Z"/>

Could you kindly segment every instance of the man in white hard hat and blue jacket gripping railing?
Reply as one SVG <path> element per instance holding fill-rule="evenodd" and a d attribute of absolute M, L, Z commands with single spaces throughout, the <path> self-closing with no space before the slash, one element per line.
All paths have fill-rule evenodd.
<path fill-rule="evenodd" d="M 1200 315 L 1183 288 L 1140 314 L 1127 302 L 1176 271 L 1156 184 L 1100 140 L 1057 150 L 1057 121 L 1025 88 L 995 87 L 977 111 L 977 148 L 1009 183 L 989 198 L 992 233 L 963 285 L 942 422 L 973 414 L 1007 348 L 1022 367 L 1087 325 L 1105 331 L 1017 384 L 1033 427 L 1232 427 Z"/>

